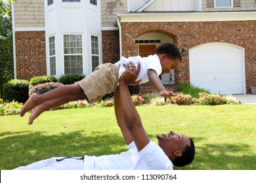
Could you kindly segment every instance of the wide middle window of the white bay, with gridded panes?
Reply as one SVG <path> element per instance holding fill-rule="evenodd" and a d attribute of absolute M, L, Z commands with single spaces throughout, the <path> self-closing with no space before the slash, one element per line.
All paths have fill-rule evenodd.
<path fill-rule="evenodd" d="M 83 74 L 82 35 L 64 35 L 64 71 Z"/>

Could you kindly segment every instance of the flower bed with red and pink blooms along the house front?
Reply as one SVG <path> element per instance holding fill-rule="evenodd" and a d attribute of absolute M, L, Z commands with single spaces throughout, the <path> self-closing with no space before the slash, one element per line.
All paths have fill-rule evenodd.
<path fill-rule="evenodd" d="M 133 94 L 131 96 L 132 101 L 135 106 L 139 105 L 224 105 L 224 104 L 239 104 L 232 95 L 220 95 L 220 94 L 209 94 L 209 93 L 199 93 L 199 98 L 194 98 L 189 94 L 177 93 L 177 96 L 173 96 L 167 100 L 165 103 L 163 97 L 159 97 L 158 93 L 146 93 L 144 95 Z M 61 105 L 59 107 L 54 107 L 52 110 L 59 110 L 65 108 L 85 108 L 85 107 L 113 107 L 114 99 L 104 99 L 96 102 L 94 105 L 89 105 L 86 100 L 72 101 Z M 12 115 L 19 114 L 22 103 L 16 101 L 3 102 L 0 99 L 0 115 Z"/>

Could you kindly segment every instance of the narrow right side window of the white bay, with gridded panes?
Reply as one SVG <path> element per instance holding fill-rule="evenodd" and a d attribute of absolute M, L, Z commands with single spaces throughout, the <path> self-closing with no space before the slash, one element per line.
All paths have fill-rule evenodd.
<path fill-rule="evenodd" d="M 99 64 L 99 54 L 98 54 L 98 37 L 91 36 L 91 60 L 92 60 L 92 69 L 95 70 Z"/>

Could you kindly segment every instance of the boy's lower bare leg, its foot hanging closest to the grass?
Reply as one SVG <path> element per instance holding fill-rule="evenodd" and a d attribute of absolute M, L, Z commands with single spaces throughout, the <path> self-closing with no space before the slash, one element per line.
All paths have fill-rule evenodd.
<path fill-rule="evenodd" d="M 60 99 L 54 99 L 54 100 L 42 103 L 41 105 L 37 105 L 37 107 L 33 109 L 32 114 L 30 114 L 30 119 L 28 121 L 28 124 L 29 125 L 33 124 L 33 120 L 35 120 L 35 118 L 37 118 L 40 114 L 42 114 L 46 110 L 49 110 L 50 108 L 63 105 L 70 101 L 77 101 L 79 99 L 87 99 L 85 93 L 82 93 L 80 95 L 70 95 L 70 96 L 62 97 Z"/>

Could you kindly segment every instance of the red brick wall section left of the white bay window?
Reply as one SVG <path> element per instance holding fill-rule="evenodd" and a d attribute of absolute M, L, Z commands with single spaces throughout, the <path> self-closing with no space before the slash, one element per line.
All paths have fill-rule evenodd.
<path fill-rule="evenodd" d="M 17 78 L 46 75 L 45 31 L 17 31 L 15 41 Z"/>

